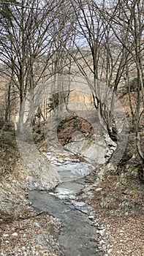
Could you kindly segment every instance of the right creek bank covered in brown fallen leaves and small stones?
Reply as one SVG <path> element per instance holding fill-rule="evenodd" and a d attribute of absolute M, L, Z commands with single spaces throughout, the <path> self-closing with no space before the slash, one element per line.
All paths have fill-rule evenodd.
<path fill-rule="evenodd" d="M 111 171 L 90 192 L 93 197 L 84 200 L 94 207 L 104 226 L 102 248 L 107 247 L 107 255 L 144 255 L 144 184 L 130 173 L 119 176 Z"/>

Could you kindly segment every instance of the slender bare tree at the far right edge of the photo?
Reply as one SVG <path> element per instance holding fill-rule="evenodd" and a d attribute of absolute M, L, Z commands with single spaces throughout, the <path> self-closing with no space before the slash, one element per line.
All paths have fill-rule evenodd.
<path fill-rule="evenodd" d="M 129 88 L 129 103 L 131 106 L 131 113 L 133 116 L 134 130 L 136 133 L 137 151 L 144 162 L 143 151 L 140 146 L 140 121 L 143 117 L 144 111 L 144 90 L 143 90 L 143 54 L 144 54 L 144 40 L 143 40 L 143 20 L 144 20 L 144 3 L 141 0 L 133 1 L 116 1 L 114 11 L 106 12 L 105 18 L 110 24 L 111 29 L 118 39 L 118 42 L 123 45 L 127 53 L 129 53 L 129 61 L 135 67 L 135 76 L 137 77 L 137 102 L 134 109 L 132 106 L 131 92 Z M 118 15 L 115 16 L 115 12 Z M 110 20 L 113 19 L 113 23 Z M 121 33 L 127 35 L 126 42 L 122 40 Z M 132 74 L 132 72 L 131 72 Z M 126 78 L 129 82 L 129 69 L 126 66 Z"/>

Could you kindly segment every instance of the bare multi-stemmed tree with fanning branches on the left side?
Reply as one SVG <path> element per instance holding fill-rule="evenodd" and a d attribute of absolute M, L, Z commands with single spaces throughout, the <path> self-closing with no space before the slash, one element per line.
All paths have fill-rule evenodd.
<path fill-rule="evenodd" d="M 22 102 L 28 91 L 31 91 L 32 99 L 34 87 L 43 77 L 53 75 L 50 72 L 52 57 L 58 51 L 53 47 L 58 33 L 53 34 L 53 24 L 61 2 L 21 0 L 3 4 L 0 58 L 9 67 L 10 77 L 13 73 L 12 83 L 18 89 L 19 124 L 23 124 L 25 105 Z"/>

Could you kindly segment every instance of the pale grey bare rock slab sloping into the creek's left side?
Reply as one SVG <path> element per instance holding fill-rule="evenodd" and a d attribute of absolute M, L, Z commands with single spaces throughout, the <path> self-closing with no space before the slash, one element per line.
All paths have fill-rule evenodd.
<path fill-rule="evenodd" d="M 18 142 L 20 154 L 29 169 L 26 176 L 26 189 L 49 190 L 56 187 L 60 178 L 56 170 L 52 170 L 50 162 L 34 144 Z"/>

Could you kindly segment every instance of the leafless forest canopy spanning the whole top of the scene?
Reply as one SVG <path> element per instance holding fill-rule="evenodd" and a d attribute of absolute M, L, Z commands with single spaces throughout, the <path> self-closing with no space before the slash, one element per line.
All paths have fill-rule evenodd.
<path fill-rule="evenodd" d="M 23 124 L 23 101 L 29 91 L 61 75 L 79 75 L 88 83 L 94 107 L 111 137 L 115 132 L 115 97 L 119 91 L 129 95 L 132 131 L 144 161 L 140 147 L 143 0 L 1 0 L 0 21 L 1 133 L 18 111 L 18 127 Z M 102 102 L 97 81 L 105 84 L 105 91 L 112 90 L 108 106 Z M 55 108 L 59 97 L 61 94 L 56 102 L 52 94 L 51 105 L 44 102 L 42 118 L 46 118 L 48 108 Z"/>

